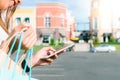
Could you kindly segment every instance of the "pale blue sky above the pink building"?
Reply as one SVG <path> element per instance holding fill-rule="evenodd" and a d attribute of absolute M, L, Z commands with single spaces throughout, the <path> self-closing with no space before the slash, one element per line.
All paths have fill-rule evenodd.
<path fill-rule="evenodd" d="M 71 10 L 72 16 L 79 22 L 88 22 L 90 15 L 90 0 L 23 0 L 21 6 L 36 6 L 38 3 L 63 3 L 68 10 Z"/>

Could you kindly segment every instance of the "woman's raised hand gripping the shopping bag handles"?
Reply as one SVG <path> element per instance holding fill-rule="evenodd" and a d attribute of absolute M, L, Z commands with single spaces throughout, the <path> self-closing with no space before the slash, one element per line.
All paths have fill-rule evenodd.
<path fill-rule="evenodd" d="M 24 30 L 24 36 L 22 39 L 22 49 L 30 49 L 33 47 L 37 40 L 35 29 L 30 25 L 25 25 L 25 23 L 22 23 L 18 26 L 16 26 L 11 34 L 16 34 Z"/>

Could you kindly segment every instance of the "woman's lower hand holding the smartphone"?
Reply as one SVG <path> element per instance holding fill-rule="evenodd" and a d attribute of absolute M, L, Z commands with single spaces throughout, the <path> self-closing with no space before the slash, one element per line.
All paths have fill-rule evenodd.
<path fill-rule="evenodd" d="M 52 53 L 54 53 L 56 50 L 53 49 L 52 47 L 45 47 L 39 50 L 37 53 L 35 53 L 32 57 L 32 67 L 35 66 L 44 66 L 44 65 L 49 65 L 53 62 L 54 59 L 57 58 L 57 55 L 49 58 L 49 59 L 42 59 Z M 28 66 L 29 66 L 29 61 L 28 61 Z"/>

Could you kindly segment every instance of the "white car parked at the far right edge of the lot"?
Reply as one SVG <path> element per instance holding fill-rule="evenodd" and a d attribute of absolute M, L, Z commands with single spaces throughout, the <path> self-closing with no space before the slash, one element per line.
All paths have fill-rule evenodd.
<path fill-rule="evenodd" d="M 100 44 L 99 46 L 94 47 L 92 51 L 93 52 L 113 52 L 113 51 L 116 51 L 116 48 L 109 44 Z"/>

